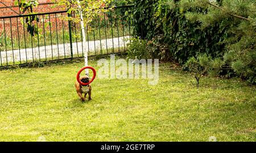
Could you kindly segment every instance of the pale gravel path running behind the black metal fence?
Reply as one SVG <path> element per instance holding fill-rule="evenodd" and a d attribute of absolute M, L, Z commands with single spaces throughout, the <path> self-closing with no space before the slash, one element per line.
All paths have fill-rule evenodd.
<path fill-rule="evenodd" d="M 118 46 L 120 48 L 123 48 L 126 46 L 127 41 L 123 39 L 124 37 L 116 37 L 114 39 L 104 39 L 104 40 L 97 40 L 95 41 L 87 41 L 86 42 L 86 51 L 88 50 L 88 44 L 89 44 L 89 54 L 94 55 L 100 54 L 101 49 L 103 50 L 104 53 L 106 53 L 106 49 L 108 46 L 109 52 L 113 52 L 113 49 L 117 49 Z M 125 39 L 129 38 L 129 36 L 125 36 Z M 119 41 L 118 41 L 119 39 Z M 114 43 L 114 46 L 113 46 Z M 107 45 L 108 44 L 108 45 Z M 119 44 L 119 45 L 118 45 Z M 79 54 L 80 56 L 82 55 L 82 42 L 73 42 L 73 56 L 77 57 Z M 64 47 L 65 46 L 65 47 Z M 59 50 L 59 52 L 58 52 Z M 20 49 L 20 50 L 8 50 L 7 52 L 3 51 L 0 52 L 0 62 L 1 63 L 13 63 L 15 62 L 26 62 L 26 61 L 32 61 L 36 59 L 44 59 L 47 58 L 47 60 L 51 60 L 52 58 L 57 58 L 57 57 L 70 57 L 71 56 L 71 49 L 70 49 L 70 43 L 66 44 L 59 44 L 59 45 L 49 45 L 49 46 L 40 46 L 39 48 L 27 48 L 27 49 Z M 7 57 L 7 58 L 6 58 Z M 7 60 L 6 60 L 7 59 Z"/>

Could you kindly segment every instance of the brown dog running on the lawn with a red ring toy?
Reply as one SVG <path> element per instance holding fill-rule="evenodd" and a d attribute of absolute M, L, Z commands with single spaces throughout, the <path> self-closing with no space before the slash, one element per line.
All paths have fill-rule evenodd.
<path fill-rule="evenodd" d="M 89 82 L 89 76 L 80 76 L 80 80 L 83 83 L 88 83 Z M 92 86 L 89 84 L 88 86 L 81 86 L 79 82 L 76 81 L 75 83 L 76 87 L 76 92 L 81 98 L 81 100 L 84 102 L 86 100 L 86 95 L 89 95 L 89 100 L 92 100 Z M 82 96 L 84 94 L 84 97 Z"/>

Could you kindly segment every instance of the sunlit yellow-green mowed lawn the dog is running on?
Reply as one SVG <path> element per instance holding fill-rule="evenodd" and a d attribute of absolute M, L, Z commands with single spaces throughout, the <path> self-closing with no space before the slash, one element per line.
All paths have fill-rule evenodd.
<path fill-rule="evenodd" d="M 238 79 L 204 77 L 196 88 L 165 63 L 157 86 L 97 78 L 81 103 L 82 66 L 0 71 L 0 141 L 256 141 L 256 90 Z"/>

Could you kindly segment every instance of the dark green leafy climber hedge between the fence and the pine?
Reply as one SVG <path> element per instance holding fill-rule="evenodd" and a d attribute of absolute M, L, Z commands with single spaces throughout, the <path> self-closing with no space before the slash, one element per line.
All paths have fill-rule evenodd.
<path fill-rule="evenodd" d="M 212 57 L 224 54 L 226 28 L 223 23 L 200 29 L 199 23 L 189 22 L 174 1 L 135 1 L 135 8 L 134 34 L 146 40 L 163 35 L 163 41 L 159 43 L 168 44 L 166 52 L 176 62 L 184 63 L 197 53 L 207 53 Z M 203 8 L 197 11 L 205 12 Z"/>

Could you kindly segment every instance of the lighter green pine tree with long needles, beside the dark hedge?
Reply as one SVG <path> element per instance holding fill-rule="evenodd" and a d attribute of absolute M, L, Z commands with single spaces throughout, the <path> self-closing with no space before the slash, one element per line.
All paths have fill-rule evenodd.
<path fill-rule="evenodd" d="M 218 59 L 226 68 L 232 70 L 250 83 L 256 83 L 256 3 L 246 1 L 207 1 L 193 0 L 177 3 L 191 22 L 199 22 L 205 29 L 216 23 L 225 23 L 225 53 Z M 195 12 L 196 8 L 207 9 L 203 14 Z"/>

